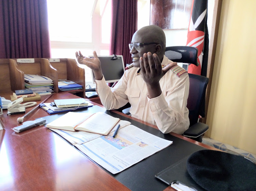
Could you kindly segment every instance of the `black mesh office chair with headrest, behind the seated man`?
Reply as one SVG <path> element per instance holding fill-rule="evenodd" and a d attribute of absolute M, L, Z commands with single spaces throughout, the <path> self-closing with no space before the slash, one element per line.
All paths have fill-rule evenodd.
<path fill-rule="evenodd" d="M 198 49 L 188 46 L 166 47 L 165 56 L 173 62 L 199 65 L 197 62 Z M 184 132 L 184 136 L 202 142 L 202 135 L 209 129 L 209 126 L 198 122 L 198 117 L 205 97 L 205 91 L 209 79 L 196 74 L 189 76 L 189 95 L 187 108 L 189 110 L 189 128 Z M 204 107 L 204 105 L 203 105 Z M 123 109 L 124 114 L 129 115 L 130 108 Z"/>

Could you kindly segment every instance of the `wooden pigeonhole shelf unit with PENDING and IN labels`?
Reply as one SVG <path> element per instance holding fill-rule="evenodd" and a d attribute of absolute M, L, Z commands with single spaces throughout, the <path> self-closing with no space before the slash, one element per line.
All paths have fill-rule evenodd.
<path fill-rule="evenodd" d="M 28 58 L 30 59 L 30 58 Z M 19 63 L 17 59 L 0 59 L 0 96 L 10 99 L 15 90 L 25 89 L 24 74 L 37 74 L 51 78 L 54 92 L 58 93 L 58 80 L 70 80 L 83 86 L 82 90 L 68 91 L 85 98 L 85 70 L 75 59 L 60 58 L 49 62 L 49 58 L 34 58 L 34 63 Z M 52 59 L 51 59 L 52 60 Z"/>

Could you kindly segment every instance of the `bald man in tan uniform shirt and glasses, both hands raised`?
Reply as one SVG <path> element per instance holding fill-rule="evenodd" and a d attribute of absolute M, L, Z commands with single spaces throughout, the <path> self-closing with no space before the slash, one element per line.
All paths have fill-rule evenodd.
<path fill-rule="evenodd" d="M 93 70 L 96 91 L 106 109 L 118 109 L 129 102 L 132 117 L 157 125 L 162 133 L 183 134 L 189 127 L 189 78 L 164 55 L 165 33 L 156 25 L 143 27 L 133 34 L 129 47 L 133 67 L 112 89 L 105 82 L 95 51 L 94 58 L 81 52 L 76 52 L 76 57 L 78 63 Z M 182 75 L 172 71 L 173 67 L 182 70 Z"/>

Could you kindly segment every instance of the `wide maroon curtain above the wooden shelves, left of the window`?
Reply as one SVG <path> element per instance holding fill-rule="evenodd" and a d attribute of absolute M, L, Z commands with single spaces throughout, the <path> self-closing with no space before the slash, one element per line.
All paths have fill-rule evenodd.
<path fill-rule="evenodd" d="M 49 57 L 47 0 L 0 1 L 0 58 Z"/>

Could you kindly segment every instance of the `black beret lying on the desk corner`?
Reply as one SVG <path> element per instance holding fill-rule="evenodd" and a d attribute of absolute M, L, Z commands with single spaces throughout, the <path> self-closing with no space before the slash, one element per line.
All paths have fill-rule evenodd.
<path fill-rule="evenodd" d="M 189 156 L 187 171 L 206 190 L 256 190 L 256 164 L 242 156 L 197 151 Z"/>

